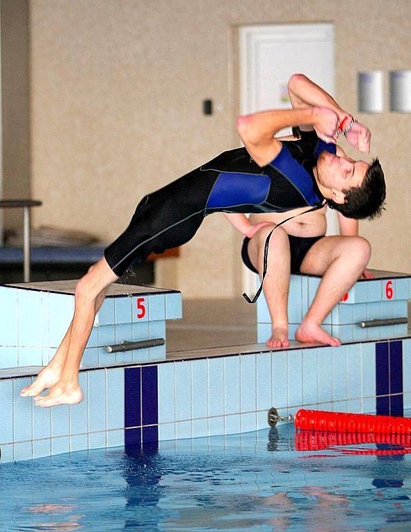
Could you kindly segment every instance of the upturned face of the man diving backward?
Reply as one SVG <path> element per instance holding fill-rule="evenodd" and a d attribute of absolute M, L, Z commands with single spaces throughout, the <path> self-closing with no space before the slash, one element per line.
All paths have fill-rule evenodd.
<path fill-rule="evenodd" d="M 317 161 L 318 181 L 322 186 L 340 193 L 361 186 L 368 168 L 369 164 L 365 161 L 354 161 L 324 151 Z"/>

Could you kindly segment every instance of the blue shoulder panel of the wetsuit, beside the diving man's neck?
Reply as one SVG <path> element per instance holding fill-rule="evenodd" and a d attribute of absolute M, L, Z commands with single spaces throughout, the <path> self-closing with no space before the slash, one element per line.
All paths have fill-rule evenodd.
<path fill-rule="evenodd" d="M 314 206 L 320 202 L 320 198 L 313 191 L 311 175 L 291 156 L 284 144 L 277 157 L 271 161 L 270 166 L 281 172 L 297 188 L 308 205 Z"/>

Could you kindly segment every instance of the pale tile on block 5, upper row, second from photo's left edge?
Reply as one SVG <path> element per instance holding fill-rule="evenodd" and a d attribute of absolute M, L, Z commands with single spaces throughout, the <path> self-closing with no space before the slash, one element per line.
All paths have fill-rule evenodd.
<path fill-rule="evenodd" d="M 42 346 L 42 292 L 18 290 L 19 346 Z M 33 317 L 36 319 L 33 319 Z"/>

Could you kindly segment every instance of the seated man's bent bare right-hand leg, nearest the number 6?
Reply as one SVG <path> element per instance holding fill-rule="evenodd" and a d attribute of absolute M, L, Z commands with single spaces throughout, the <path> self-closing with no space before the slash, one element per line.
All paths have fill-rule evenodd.
<path fill-rule="evenodd" d="M 321 328 L 321 323 L 360 278 L 370 255 L 369 242 L 360 236 L 326 236 L 309 249 L 300 272 L 319 275 L 322 279 L 307 314 L 295 332 L 295 339 L 330 346 L 341 344 L 340 340 Z"/>

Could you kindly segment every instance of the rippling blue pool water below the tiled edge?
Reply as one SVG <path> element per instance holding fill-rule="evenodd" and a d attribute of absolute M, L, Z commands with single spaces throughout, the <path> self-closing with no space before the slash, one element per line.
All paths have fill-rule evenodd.
<path fill-rule="evenodd" d="M 312 442 L 288 424 L 6 463 L 0 530 L 411 531 L 407 445 Z"/>

